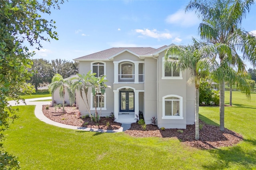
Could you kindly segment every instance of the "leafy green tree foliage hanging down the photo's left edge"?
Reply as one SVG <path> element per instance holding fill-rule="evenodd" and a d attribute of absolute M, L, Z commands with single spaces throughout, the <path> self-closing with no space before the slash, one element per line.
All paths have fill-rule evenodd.
<path fill-rule="evenodd" d="M 4 137 L 3 131 L 9 126 L 8 120 L 17 118 L 15 110 L 8 105 L 7 97 L 19 100 L 18 93 L 29 87 L 26 81 L 31 76 L 28 70 L 32 65 L 30 57 L 34 53 L 23 43 L 37 45 L 40 49 L 41 40 L 58 39 L 54 21 L 45 20 L 40 14 L 50 14 L 50 9 L 59 8 L 62 2 L 63 0 L 0 0 L 0 140 Z M 26 91 L 29 93 L 27 89 Z M 16 158 L 2 149 L 0 160 L 2 169 L 19 168 Z"/>

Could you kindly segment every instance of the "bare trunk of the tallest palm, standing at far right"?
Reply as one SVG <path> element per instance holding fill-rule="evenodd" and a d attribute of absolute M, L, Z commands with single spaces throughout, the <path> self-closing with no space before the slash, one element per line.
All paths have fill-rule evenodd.
<path fill-rule="evenodd" d="M 225 81 L 220 82 L 220 130 L 224 131 Z"/>

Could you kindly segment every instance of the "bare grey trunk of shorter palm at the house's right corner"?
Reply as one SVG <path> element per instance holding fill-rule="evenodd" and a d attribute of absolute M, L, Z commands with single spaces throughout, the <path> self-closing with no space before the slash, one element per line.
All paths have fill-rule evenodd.
<path fill-rule="evenodd" d="M 196 85 L 195 89 L 195 139 L 199 140 L 199 89 L 198 85 Z"/>

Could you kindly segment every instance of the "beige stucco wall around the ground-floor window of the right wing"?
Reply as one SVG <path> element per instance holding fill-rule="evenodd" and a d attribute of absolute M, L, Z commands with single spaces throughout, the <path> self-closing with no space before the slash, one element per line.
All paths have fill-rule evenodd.
<path fill-rule="evenodd" d="M 165 128 L 186 128 L 186 124 L 194 124 L 194 86 L 190 86 L 187 81 L 190 77 L 189 71 L 182 72 L 182 79 L 162 79 L 162 57 L 164 52 L 158 57 L 158 117 L 159 127 Z M 162 119 L 162 97 L 166 95 L 178 95 L 183 99 L 183 119 Z"/>

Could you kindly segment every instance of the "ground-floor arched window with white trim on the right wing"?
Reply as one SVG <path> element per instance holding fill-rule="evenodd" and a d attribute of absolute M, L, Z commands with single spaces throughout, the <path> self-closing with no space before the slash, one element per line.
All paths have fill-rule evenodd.
<path fill-rule="evenodd" d="M 183 119 L 182 97 L 166 95 L 163 97 L 162 119 Z"/>

